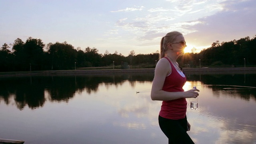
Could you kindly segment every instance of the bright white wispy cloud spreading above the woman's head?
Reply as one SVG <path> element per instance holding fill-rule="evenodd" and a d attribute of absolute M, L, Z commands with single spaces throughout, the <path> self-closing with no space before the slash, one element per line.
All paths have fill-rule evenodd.
<path fill-rule="evenodd" d="M 200 13 L 202 11 L 205 13 L 212 13 L 214 11 L 222 10 L 221 6 L 223 5 L 208 2 L 204 8 L 201 8 L 202 4 L 205 4 L 206 2 L 201 2 L 200 0 L 192 0 L 189 2 L 184 0 L 169 0 L 169 2 L 176 2 L 178 5 L 174 6 L 174 9 L 163 7 L 150 8 L 148 12 L 157 13 L 148 14 L 146 16 L 136 17 L 133 19 L 120 19 L 116 22 L 116 26 L 133 34 L 140 34 L 135 36 L 136 40 L 138 41 L 153 40 L 158 38 L 160 34 L 173 30 L 183 32 L 184 34 L 190 34 L 198 31 L 198 29 L 193 28 L 192 26 L 204 24 L 204 21 L 190 20 L 181 22 L 177 19 L 177 16 L 186 17 L 188 14 L 192 16 L 194 13 Z M 199 10 L 198 6 L 200 7 Z M 190 15 L 187 16 L 188 19 Z M 155 34 L 152 34 L 152 32 Z"/>

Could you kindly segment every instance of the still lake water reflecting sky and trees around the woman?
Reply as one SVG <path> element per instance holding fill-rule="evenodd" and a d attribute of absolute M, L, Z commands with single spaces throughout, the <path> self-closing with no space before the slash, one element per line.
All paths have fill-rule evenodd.
<path fill-rule="evenodd" d="M 196 144 L 256 144 L 256 74 L 186 74 Z M 154 74 L 0 78 L 0 138 L 25 144 L 167 144 Z"/>

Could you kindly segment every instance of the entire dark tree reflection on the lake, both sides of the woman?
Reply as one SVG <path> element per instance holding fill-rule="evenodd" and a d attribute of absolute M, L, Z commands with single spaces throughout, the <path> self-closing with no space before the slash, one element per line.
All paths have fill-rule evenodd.
<path fill-rule="evenodd" d="M 108 89 L 109 86 L 122 86 L 126 81 L 130 86 L 136 87 L 136 82 L 152 82 L 154 74 L 104 74 L 86 76 L 33 76 L 0 79 L 0 103 L 11 104 L 12 100 L 19 110 L 28 106 L 30 109 L 44 106 L 50 102 L 68 102 L 75 93 L 86 92 L 88 94 L 98 92 L 101 84 Z M 229 96 L 239 96 L 243 100 L 254 97 L 256 101 L 256 89 L 238 89 L 235 86 L 256 86 L 255 74 L 190 74 L 188 81 L 201 81 L 202 84 L 212 88 L 213 92 L 230 93 Z M 245 80 L 246 79 L 246 80 Z M 222 86 L 220 86 L 222 85 Z M 233 90 L 228 86 L 233 86 Z M 236 89 L 237 88 L 237 89 Z"/>

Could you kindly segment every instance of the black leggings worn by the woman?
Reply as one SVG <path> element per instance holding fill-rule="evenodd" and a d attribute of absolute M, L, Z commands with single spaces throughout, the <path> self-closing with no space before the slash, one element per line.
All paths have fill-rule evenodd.
<path fill-rule="evenodd" d="M 180 120 L 171 120 L 158 116 L 161 130 L 168 138 L 168 144 L 194 144 L 187 134 L 187 117 Z"/>

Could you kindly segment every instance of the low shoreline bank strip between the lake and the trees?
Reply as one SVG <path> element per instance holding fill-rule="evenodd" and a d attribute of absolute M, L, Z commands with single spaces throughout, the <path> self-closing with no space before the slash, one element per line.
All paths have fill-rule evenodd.
<path fill-rule="evenodd" d="M 154 68 L 102 69 L 102 70 L 47 70 L 26 72 L 0 72 L 0 77 L 16 76 L 82 76 L 92 74 L 154 73 Z M 183 68 L 185 74 L 256 74 L 256 67 L 241 68 Z"/>

